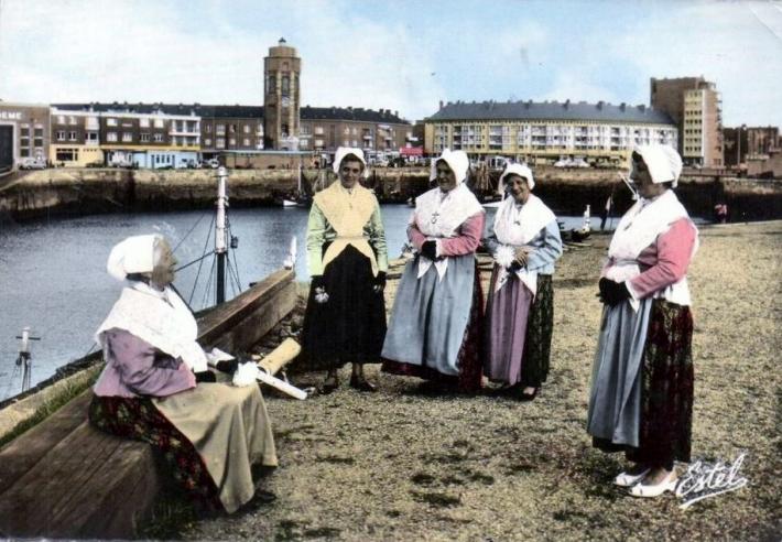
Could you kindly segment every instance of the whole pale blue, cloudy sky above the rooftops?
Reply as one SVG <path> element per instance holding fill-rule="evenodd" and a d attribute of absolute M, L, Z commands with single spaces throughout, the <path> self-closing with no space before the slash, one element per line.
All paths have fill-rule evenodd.
<path fill-rule="evenodd" d="M 782 126 L 779 1 L 0 0 L 0 99 L 260 105 L 280 36 L 312 106 L 648 104 L 703 75 L 726 126 Z"/>

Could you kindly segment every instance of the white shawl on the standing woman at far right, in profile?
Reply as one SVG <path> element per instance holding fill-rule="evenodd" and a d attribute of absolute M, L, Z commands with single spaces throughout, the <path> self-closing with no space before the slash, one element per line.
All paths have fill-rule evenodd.
<path fill-rule="evenodd" d="M 667 231 L 673 223 L 688 217 L 687 209 L 670 189 L 655 199 L 638 200 L 619 220 L 608 247 L 611 264 L 605 269 L 602 275 L 615 282 L 626 282 L 641 274 L 638 265 L 638 256 L 641 251 L 652 245 L 658 236 Z M 697 249 L 696 239 L 693 254 Z M 692 302 L 686 277 L 659 294 L 680 305 L 689 305 Z M 630 305 L 638 311 L 640 302 L 631 299 Z"/>

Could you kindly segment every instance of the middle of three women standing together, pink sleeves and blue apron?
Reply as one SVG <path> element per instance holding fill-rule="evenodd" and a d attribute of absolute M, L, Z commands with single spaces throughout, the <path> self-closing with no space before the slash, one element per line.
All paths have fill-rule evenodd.
<path fill-rule="evenodd" d="M 475 251 L 484 208 L 464 184 L 469 161 L 445 150 L 434 162 L 437 187 L 419 196 L 408 226 L 417 257 L 404 268 L 383 344 L 382 370 L 480 389 L 482 293 Z"/>

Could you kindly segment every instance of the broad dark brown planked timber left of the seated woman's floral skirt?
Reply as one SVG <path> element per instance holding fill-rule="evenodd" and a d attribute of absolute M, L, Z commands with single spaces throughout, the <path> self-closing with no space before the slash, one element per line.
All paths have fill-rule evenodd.
<path fill-rule="evenodd" d="M 150 445 L 83 423 L 0 501 L 8 536 L 127 538 L 160 490 Z M 129 498 L 130 494 L 135 498 Z"/>

